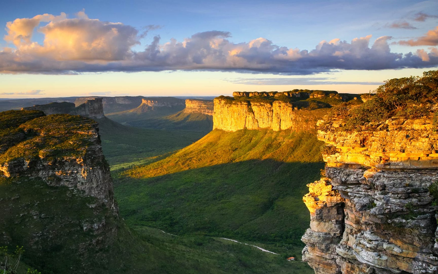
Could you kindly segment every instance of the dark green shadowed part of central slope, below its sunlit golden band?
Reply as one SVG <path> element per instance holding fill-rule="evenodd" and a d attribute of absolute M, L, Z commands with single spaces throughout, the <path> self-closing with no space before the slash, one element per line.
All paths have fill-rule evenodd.
<path fill-rule="evenodd" d="M 247 160 L 152 178 L 116 174 L 115 195 L 130 225 L 297 247 L 309 226 L 302 197 L 323 167 Z"/>

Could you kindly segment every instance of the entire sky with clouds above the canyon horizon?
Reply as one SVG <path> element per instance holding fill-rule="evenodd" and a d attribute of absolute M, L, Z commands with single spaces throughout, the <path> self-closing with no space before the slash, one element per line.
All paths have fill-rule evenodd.
<path fill-rule="evenodd" d="M 368 93 L 438 69 L 438 1 L 0 0 L 0 98 Z"/>

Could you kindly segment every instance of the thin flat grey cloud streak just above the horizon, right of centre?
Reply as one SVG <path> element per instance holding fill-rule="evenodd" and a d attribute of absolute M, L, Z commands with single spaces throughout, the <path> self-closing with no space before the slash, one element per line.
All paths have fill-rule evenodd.
<path fill-rule="evenodd" d="M 383 85 L 384 82 L 345 82 L 327 77 L 301 78 L 235 78 L 226 82 L 241 85 Z"/>

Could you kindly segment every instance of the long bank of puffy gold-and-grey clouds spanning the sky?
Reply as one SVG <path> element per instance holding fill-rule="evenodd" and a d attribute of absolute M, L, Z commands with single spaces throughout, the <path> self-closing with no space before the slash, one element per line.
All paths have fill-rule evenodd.
<path fill-rule="evenodd" d="M 139 33 L 129 25 L 90 19 L 83 11 L 75 18 L 67 18 L 64 13 L 18 18 L 6 24 L 4 39 L 14 47 L 0 51 L 0 73 L 212 70 L 309 75 L 338 69 L 380 70 L 438 65 L 436 50 L 392 53 L 388 44 L 391 36 L 379 37 L 370 45 L 371 35 L 351 42 L 324 40 L 313 50 L 299 50 L 277 46 L 262 37 L 232 43 L 230 32 L 208 31 L 196 33 L 184 41 L 171 39 L 167 43 L 161 43 L 160 36 L 155 36 L 145 50 L 134 51 L 133 46 L 140 44 L 139 40 L 149 29 L 155 28 L 159 26 L 148 26 Z M 35 30 L 44 35 L 42 44 L 32 40 Z M 426 38 L 420 37 L 412 43 L 421 43 L 418 41 L 433 35 L 428 32 Z M 429 40 L 432 42 L 423 44 L 436 45 L 433 37 Z"/>

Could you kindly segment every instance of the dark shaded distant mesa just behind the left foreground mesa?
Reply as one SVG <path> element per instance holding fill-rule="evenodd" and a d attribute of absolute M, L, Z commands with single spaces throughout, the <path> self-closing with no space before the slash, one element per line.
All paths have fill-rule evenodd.
<path fill-rule="evenodd" d="M 21 110 L 41 110 L 46 115 L 50 114 L 71 114 L 81 115 L 92 119 L 101 119 L 105 117 L 103 114 L 102 98 L 86 100 L 78 107 L 74 103 L 49 103 L 45 105 L 35 105 L 33 107 L 23 107 Z"/>

